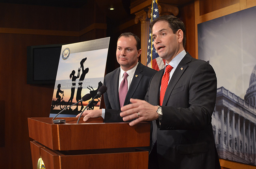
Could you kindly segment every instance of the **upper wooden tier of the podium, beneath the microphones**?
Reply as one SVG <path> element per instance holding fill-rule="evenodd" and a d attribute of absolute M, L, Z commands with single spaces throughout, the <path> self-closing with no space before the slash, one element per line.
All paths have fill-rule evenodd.
<path fill-rule="evenodd" d="M 53 150 L 109 149 L 147 147 L 150 123 L 135 126 L 128 123 L 74 123 L 77 118 L 64 118 L 65 124 L 54 124 L 52 118 L 28 118 L 29 136 Z"/>

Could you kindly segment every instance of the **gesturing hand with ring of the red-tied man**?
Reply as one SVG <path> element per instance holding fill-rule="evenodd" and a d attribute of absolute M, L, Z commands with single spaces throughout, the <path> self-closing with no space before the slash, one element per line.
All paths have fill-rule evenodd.
<path fill-rule="evenodd" d="M 148 122 L 156 120 L 158 118 L 158 113 L 156 112 L 158 107 L 151 105 L 145 100 L 139 100 L 131 98 L 130 102 L 132 104 L 125 105 L 121 108 L 120 116 L 123 117 L 122 120 L 128 121 L 133 120 L 129 123 L 130 126 L 136 125 L 139 122 Z"/>

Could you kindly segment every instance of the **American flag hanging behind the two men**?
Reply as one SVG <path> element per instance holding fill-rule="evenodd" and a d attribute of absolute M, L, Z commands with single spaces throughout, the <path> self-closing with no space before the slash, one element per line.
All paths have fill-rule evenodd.
<path fill-rule="evenodd" d="M 157 0 L 152 0 L 150 22 L 152 22 L 155 18 L 158 18 L 158 17 L 159 17 L 159 12 L 158 12 Z M 154 44 L 153 44 L 154 41 L 151 35 L 152 35 L 152 31 L 149 30 L 147 66 L 159 71 L 165 67 L 165 60 L 160 58 L 158 53 L 156 53 L 156 49 L 154 48 Z"/>

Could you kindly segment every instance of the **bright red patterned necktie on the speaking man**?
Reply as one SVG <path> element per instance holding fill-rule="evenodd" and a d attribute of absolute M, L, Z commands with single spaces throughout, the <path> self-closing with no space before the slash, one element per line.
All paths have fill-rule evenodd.
<path fill-rule="evenodd" d="M 171 65 L 167 65 L 165 67 L 165 73 L 163 74 L 162 81 L 161 81 L 161 90 L 160 90 L 160 105 L 163 105 L 163 98 L 165 96 L 165 91 L 168 86 L 170 72 L 173 69 Z"/>

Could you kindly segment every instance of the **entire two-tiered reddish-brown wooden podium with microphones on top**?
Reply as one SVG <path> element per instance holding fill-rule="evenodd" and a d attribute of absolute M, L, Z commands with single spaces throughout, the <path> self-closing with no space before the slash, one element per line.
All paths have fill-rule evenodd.
<path fill-rule="evenodd" d="M 57 118 L 58 119 L 58 118 Z M 102 118 L 76 124 L 52 118 L 28 118 L 33 169 L 41 158 L 46 169 L 147 169 L 150 123 L 103 123 Z"/>

